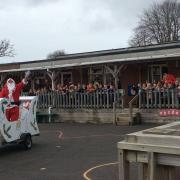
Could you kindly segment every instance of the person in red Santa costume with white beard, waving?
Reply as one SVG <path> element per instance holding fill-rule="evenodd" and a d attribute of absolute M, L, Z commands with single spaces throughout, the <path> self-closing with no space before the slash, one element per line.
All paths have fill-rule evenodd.
<path fill-rule="evenodd" d="M 9 121 L 17 121 L 19 119 L 19 96 L 25 84 L 24 80 L 16 84 L 15 81 L 10 78 L 0 92 L 0 98 L 7 98 L 8 100 L 6 118 Z"/>

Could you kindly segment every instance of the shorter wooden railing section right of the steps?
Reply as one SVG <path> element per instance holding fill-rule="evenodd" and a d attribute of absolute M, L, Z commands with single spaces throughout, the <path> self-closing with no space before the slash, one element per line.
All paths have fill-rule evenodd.
<path fill-rule="evenodd" d="M 180 89 L 140 91 L 139 108 L 180 108 Z"/>

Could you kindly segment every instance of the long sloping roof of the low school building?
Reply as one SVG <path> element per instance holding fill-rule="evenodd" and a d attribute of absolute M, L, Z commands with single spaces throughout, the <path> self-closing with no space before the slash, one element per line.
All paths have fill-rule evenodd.
<path fill-rule="evenodd" d="M 0 72 L 38 70 L 47 68 L 67 68 L 75 66 L 87 66 L 95 64 L 109 63 L 133 63 L 164 59 L 174 59 L 180 57 L 180 42 L 167 43 L 162 45 L 151 45 L 144 47 L 130 47 L 93 52 L 84 52 L 76 54 L 67 54 L 56 59 L 44 59 L 18 63 L 18 69 L 5 69 Z M 1 65 L 0 65 L 1 66 Z M 3 64 L 4 66 L 4 64 Z"/>

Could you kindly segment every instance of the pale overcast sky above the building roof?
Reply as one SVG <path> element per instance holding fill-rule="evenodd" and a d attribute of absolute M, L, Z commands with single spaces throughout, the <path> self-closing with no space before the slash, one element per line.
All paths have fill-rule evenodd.
<path fill-rule="evenodd" d="M 0 63 L 45 59 L 60 49 L 71 54 L 127 47 L 143 10 L 153 2 L 1 0 L 0 39 L 14 44 L 16 56 Z"/>

